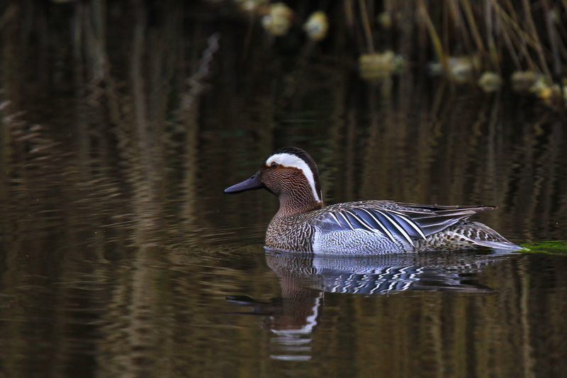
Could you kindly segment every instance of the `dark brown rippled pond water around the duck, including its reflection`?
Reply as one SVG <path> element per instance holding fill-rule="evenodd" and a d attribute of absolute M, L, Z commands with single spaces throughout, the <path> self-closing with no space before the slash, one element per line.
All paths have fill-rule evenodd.
<path fill-rule="evenodd" d="M 71 7 L 50 9 L 91 19 Z M 223 194 L 296 145 L 327 204 L 498 204 L 477 218 L 513 242 L 567 240 L 557 109 L 420 67 L 368 84 L 344 46 L 256 30 L 246 49 L 244 21 L 130 11 L 66 48 L 39 38 L 72 40 L 64 24 L 4 23 L 1 376 L 566 376 L 564 244 L 279 255 L 275 197 Z"/>

